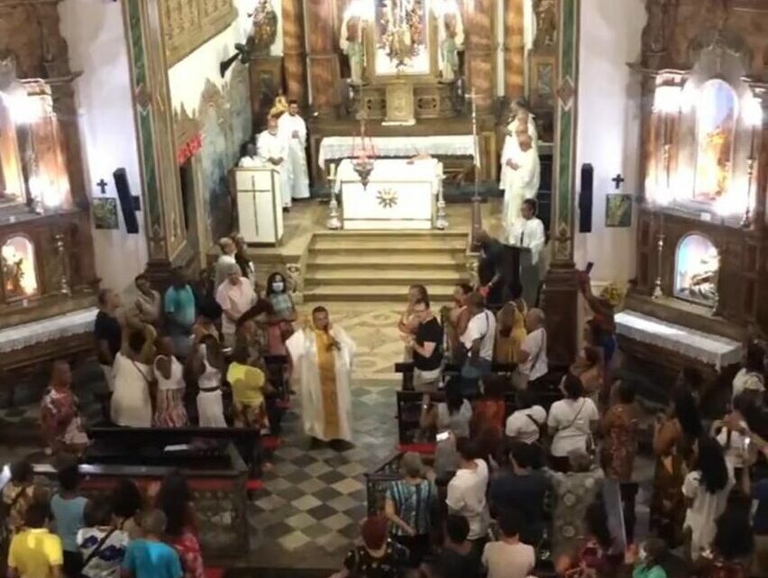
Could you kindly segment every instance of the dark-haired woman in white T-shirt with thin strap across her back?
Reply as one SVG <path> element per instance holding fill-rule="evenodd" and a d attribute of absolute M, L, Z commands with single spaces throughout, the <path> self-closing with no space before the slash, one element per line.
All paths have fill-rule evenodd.
<path fill-rule="evenodd" d="M 581 380 L 572 373 L 566 373 L 560 382 L 564 399 L 555 401 L 549 409 L 547 427 L 553 436 L 553 470 L 568 472 L 568 454 L 574 450 L 589 451 L 592 432 L 598 426 L 599 413 L 595 403 L 584 397 Z"/>

